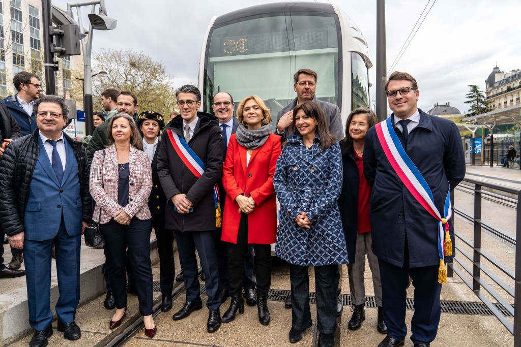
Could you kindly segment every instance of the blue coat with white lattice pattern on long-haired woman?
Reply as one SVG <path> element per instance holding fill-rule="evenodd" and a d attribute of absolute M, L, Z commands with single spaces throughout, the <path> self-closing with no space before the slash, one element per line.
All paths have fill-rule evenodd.
<path fill-rule="evenodd" d="M 322 150 L 318 135 L 309 150 L 300 135 L 290 135 L 287 143 L 273 177 L 280 202 L 275 254 L 294 265 L 347 264 L 337 204 L 342 188 L 340 146 L 335 143 Z M 311 229 L 295 223 L 302 211 L 311 220 Z"/>

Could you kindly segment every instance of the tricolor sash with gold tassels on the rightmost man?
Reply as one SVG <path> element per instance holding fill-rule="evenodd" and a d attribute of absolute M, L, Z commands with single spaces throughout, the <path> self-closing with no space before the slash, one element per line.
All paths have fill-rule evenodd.
<path fill-rule="evenodd" d="M 438 253 L 440 256 L 440 268 L 438 270 L 438 282 L 447 282 L 447 270 L 443 260 L 444 255 L 452 255 L 452 242 L 449 235 L 449 223 L 452 216 L 450 188 L 444 204 L 444 213 L 440 214 L 434 203 L 434 198 L 429 185 L 414 165 L 411 158 L 407 156 L 398 135 L 394 132 L 391 117 L 376 124 L 376 134 L 383 152 L 386 154 L 396 175 L 400 177 L 403 184 L 411 192 L 414 198 L 438 220 Z"/>

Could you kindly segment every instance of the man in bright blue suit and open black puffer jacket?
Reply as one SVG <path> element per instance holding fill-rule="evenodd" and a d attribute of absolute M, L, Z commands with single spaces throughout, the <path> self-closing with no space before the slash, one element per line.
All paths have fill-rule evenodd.
<path fill-rule="evenodd" d="M 56 96 L 34 102 L 38 129 L 11 142 L 0 162 L 0 219 L 9 243 L 24 249 L 30 346 L 53 335 L 51 248 L 56 246 L 58 331 L 81 337 L 76 325 L 80 301 L 80 242 L 91 220 L 89 172 L 81 143 L 63 133 L 68 107 Z"/>

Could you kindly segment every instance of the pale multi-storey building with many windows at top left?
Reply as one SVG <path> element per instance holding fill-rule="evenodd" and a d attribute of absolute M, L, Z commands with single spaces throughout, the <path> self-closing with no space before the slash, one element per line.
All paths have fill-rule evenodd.
<path fill-rule="evenodd" d="M 16 93 L 13 76 L 20 71 L 40 76 L 43 69 L 43 21 L 40 0 L 0 0 L 0 98 Z M 56 95 L 72 88 L 71 71 L 81 68 L 82 56 L 58 59 Z M 43 86 L 45 91 L 45 85 Z"/>

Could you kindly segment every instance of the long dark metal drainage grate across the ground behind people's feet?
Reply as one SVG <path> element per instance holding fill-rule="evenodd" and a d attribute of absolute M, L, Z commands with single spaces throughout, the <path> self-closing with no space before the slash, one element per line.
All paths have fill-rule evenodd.
<path fill-rule="evenodd" d="M 154 281 L 154 291 L 161 291 L 158 281 Z M 206 295 L 205 285 L 200 286 L 201 295 Z M 268 300 L 270 301 L 286 301 L 286 298 L 290 294 L 289 290 L 282 289 L 270 289 L 268 292 Z M 351 306 L 351 295 L 341 294 L 340 300 L 342 305 Z M 309 302 L 315 304 L 317 302 L 316 293 L 309 293 Z M 468 314 L 478 316 L 492 316 L 492 311 L 482 302 L 465 302 L 465 301 L 440 301 L 442 313 L 452 314 Z M 495 303 L 495 308 L 499 310 L 505 317 L 513 317 L 502 304 Z M 367 296 L 365 307 L 376 308 L 375 297 Z M 405 302 L 406 310 L 414 310 L 414 300 L 407 299 Z"/>

